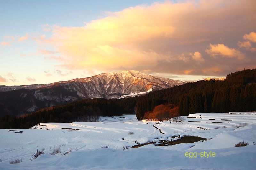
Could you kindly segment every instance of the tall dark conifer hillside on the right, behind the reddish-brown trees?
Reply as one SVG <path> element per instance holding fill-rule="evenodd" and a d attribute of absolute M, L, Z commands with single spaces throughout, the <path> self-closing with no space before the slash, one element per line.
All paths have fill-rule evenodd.
<path fill-rule="evenodd" d="M 178 105 L 180 115 L 254 111 L 256 110 L 256 69 L 228 74 L 224 81 L 201 80 L 149 93 L 137 103 L 137 118 L 142 119 L 145 112 L 152 110 L 150 101 L 156 99 Z"/>

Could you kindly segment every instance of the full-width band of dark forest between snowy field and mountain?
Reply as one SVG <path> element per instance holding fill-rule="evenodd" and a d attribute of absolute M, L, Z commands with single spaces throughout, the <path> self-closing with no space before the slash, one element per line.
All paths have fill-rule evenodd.
<path fill-rule="evenodd" d="M 201 112 L 256 110 L 256 69 L 227 75 L 224 81 L 186 83 L 125 99 L 83 99 L 23 117 L 5 116 L 0 128 L 29 128 L 41 122 L 94 121 L 98 116 L 135 114 L 138 120 L 160 104 L 172 104 L 184 116 Z"/>

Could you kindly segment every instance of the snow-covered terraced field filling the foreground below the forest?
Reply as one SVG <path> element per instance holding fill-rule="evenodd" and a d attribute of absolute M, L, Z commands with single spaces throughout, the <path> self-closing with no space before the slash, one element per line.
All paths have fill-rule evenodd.
<path fill-rule="evenodd" d="M 183 124 L 137 121 L 135 115 L 103 117 L 100 121 L 40 123 L 31 129 L 19 129 L 22 133 L 0 129 L 0 169 L 256 168 L 256 114 L 191 114 Z M 207 140 L 156 146 L 183 136 Z M 234 147 L 243 141 L 249 145 Z M 153 144 L 131 148 L 147 142 Z M 124 150 L 126 146 L 129 149 Z M 72 151 L 51 155 L 56 148 L 62 154 L 68 148 Z M 37 150 L 44 154 L 31 161 Z M 185 156 L 186 152 L 191 155 Z M 214 152 L 215 157 L 201 157 L 201 152 Z M 10 164 L 15 159 L 22 162 Z"/>

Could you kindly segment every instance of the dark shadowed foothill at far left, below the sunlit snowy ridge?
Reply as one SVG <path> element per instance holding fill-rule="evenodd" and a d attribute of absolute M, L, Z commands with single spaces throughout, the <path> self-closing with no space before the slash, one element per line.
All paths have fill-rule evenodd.
<path fill-rule="evenodd" d="M 64 87 L 51 89 L 19 89 L 0 92 L 0 118 L 5 115 L 20 116 L 39 110 L 40 108 L 57 106 L 81 99 L 76 92 Z"/>

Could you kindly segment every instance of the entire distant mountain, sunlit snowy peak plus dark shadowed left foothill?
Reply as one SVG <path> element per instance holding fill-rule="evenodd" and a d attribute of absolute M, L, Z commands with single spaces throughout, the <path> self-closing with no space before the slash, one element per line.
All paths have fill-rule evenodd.
<path fill-rule="evenodd" d="M 139 71 L 120 71 L 45 85 L 0 86 L 0 116 L 22 115 L 82 98 L 120 98 L 183 84 Z"/>

